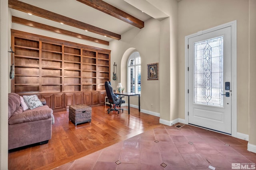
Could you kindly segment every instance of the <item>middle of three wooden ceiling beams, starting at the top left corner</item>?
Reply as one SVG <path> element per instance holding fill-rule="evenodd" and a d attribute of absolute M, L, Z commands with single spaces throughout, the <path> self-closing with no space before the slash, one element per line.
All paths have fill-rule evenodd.
<path fill-rule="evenodd" d="M 74 20 L 72 18 L 68 18 L 68 17 L 62 16 L 60 14 L 56 14 L 54 12 L 44 10 L 42 8 L 32 6 L 30 4 L 26 4 L 26 3 L 18 1 L 18 0 L 8 0 L 8 6 L 9 6 L 9 8 L 12 8 L 14 10 L 19 10 L 22 12 L 30 13 L 35 16 L 39 16 L 42 18 L 46 18 L 48 20 L 64 23 L 66 25 L 70 25 L 72 27 L 76 27 L 79 29 L 88 30 L 92 33 L 100 34 L 103 36 L 106 35 L 107 37 L 117 39 L 117 40 L 121 39 L 121 35 L 119 35 L 119 34 L 112 33 L 110 31 L 101 29 L 99 27 L 94 27 L 93 25 L 89 25 L 87 23 L 83 23 L 81 21 Z"/>

